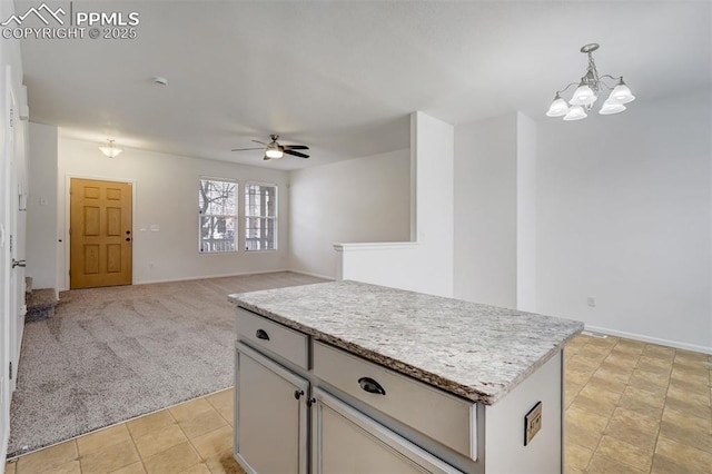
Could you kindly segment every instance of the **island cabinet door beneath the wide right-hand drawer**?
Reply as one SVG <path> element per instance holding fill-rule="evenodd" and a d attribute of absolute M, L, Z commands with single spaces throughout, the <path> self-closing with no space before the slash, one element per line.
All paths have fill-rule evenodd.
<path fill-rule="evenodd" d="M 459 473 L 326 392 L 317 388 L 314 396 L 315 473 Z"/>

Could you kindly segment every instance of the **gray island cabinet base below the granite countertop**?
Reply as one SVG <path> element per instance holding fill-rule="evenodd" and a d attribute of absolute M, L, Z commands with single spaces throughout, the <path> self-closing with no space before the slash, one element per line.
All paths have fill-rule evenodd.
<path fill-rule="evenodd" d="M 562 472 L 561 352 L 485 406 L 243 308 L 236 329 L 234 450 L 249 474 Z"/>

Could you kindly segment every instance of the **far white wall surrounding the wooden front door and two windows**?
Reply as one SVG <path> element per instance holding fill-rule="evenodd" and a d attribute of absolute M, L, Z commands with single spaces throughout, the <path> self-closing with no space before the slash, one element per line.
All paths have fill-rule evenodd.
<path fill-rule="evenodd" d="M 120 145 L 120 144 L 119 144 Z M 113 159 L 105 157 L 99 144 L 59 138 L 59 196 L 61 235 L 60 288 L 68 288 L 70 177 L 134 182 L 134 283 L 204 278 L 219 275 L 273 271 L 287 268 L 288 196 L 285 171 L 188 158 L 138 149 L 125 149 Z M 278 186 L 278 250 L 237 254 L 198 253 L 198 180 L 230 178 L 239 182 L 239 217 L 244 216 L 244 186 L 256 180 Z M 160 231 L 150 231 L 159 226 Z M 240 236 L 244 224 L 240 224 Z M 48 229 L 50 231 L 50 229 Z M 53 231 L 53 230 L 52 230 Z"/>

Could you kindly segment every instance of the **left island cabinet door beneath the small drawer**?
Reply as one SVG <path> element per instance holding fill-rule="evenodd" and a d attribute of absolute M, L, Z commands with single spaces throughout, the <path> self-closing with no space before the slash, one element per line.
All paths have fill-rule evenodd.
<path fill-rule="evenodd" d="M 309 383 L 238 343 L 235 456 L 248 473 L 307 472 Z"/>

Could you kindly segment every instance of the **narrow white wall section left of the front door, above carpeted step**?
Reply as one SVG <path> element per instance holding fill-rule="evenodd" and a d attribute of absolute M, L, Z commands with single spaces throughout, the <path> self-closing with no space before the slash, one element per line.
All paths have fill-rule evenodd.
<path fill-rule="evenodd" d="M 57 284 L 57 127 L 30 122 L 27 275 L 34 288 Z"/>

